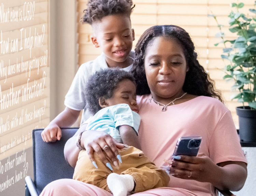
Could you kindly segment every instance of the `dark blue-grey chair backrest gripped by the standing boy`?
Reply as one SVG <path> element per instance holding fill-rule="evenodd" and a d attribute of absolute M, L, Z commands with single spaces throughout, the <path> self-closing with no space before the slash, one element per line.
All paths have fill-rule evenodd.
<path fill-rule="evenodd" d="M 61 128 L 61 139 L 53 143 L 42 140 L 41 133 L 44 129 L 33 130 L 34 184 L 39 194 L 48 183 L 73 177 L 74 169 L 66 162 L 63 150 L 65 143 L 77 129 Z"/>

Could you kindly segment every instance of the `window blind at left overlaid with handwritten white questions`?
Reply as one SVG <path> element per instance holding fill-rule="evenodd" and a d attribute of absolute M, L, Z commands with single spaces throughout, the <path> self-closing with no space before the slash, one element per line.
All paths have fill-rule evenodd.
<path fill-rule="evenodd" d="M 0 160 L 49 123 L 48 17 L 48 0 L 0 2 Z"/>

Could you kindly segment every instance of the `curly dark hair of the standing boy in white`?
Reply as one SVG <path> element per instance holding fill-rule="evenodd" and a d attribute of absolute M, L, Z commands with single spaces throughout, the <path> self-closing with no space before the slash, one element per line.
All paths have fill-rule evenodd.
<path fill-rule="evenodd" d="M 134 6 L 132 6 L 132 0 L 89 0 L 81 22 L 92 24 L 95 21 L 101 21 L 105 16 L 116 14 L 125 14 L 130 17 Z"/>

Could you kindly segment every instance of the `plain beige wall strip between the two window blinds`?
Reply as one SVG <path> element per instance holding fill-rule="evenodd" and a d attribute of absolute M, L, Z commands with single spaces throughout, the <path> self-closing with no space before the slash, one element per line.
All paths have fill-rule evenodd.
<path fill-rule="evenodd" d="M 77 71 L 76 1 L 51 0 L 50 119 L 65 108 L 64 100 Z"/>

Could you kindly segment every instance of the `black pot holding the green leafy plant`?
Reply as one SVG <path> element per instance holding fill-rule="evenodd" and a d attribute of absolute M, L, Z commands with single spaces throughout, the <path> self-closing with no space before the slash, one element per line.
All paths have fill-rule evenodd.
<path fill-rule="evenodd" d="M 239 135 L 243 142 L 256 142 L 256 110 L 249 106 L 237 107 L 239 117 Z"/>

